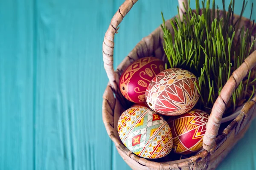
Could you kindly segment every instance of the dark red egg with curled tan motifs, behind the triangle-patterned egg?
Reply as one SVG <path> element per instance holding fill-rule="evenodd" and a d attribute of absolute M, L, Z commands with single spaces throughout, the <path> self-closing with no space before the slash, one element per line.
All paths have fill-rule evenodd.
<path fill-rule="evenodd" d="M 125 69 L 119 79 L 122 95 L 131 102 L 145 102 L 146 88 L 158 73 L 164 70 L 165 63 L 155 57 L 137 59 Z"/>

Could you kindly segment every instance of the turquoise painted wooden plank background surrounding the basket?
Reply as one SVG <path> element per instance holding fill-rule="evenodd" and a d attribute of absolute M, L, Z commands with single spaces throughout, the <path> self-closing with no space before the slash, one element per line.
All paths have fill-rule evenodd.
<path fill-rule="evenodd" d="M 130 169 L 102 122 L 102 41 L 122 2 L 0 0 L 0 170 Z M 176 15 L 177 0 L 131 9 L 116 35 L 115 68 L 161 24 L 161 11 Z M 256 121 L 219 170 L 256 169 L 255 129 Z"/>

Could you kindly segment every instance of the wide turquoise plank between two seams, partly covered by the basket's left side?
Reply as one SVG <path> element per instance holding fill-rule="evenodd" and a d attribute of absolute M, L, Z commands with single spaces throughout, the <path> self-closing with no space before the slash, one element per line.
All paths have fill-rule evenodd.
<path fill-rule="evenodd" d="M 112 0 L 37 1 L 36 169 L 113 169 L 101 107 L 111 6 Z"/>

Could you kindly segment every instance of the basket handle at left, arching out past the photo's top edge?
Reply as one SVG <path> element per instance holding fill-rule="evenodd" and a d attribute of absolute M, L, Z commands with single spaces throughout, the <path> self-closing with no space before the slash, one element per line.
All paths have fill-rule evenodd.
<path fill-rule="evenodd" d="M 130 11 L 130 9 L 133 7 L 133 5 L 137 1 L 138 0 L 125 0 L 125 2 L 119 7 L 118 11 L 116 11 L 116 14 L 113 16 L 111 23 L 108 27 L 108 30 L 105 33 L 103 46 L 102 46 L 104 68 L 108 75 L 108 79 L 111 84 L 111 87 L 114 90 L 117 90 L 116 83 L 115 83 L 116 75 L 113 68 L 114 37 L 118 30 L 119 24 L 122 22 L 122 19 L 125 17 L 125 15 Z M 179 8 L 180 18 L 182 18 L 183 14 L 185 13 L 183 3 L 187 8 L 188 2 L 187 0 L 178 0 L 178 2 L 180 6 Z"/>

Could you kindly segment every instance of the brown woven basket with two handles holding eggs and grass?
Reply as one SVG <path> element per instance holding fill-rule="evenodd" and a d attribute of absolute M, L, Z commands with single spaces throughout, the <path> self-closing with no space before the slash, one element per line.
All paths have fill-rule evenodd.
<path fill-rule="evenodd" d="M 118 30 L 118 26 L 122 19 L 132 8 L 137 0 L 125 0 L 120 6 L 116 14 L 113 16 L 108 31 L 105 34 L 103 42 L 103 61 L 107 72 L 109 83 L 103 95 L 102 116 L 108 135 L 116 145 L 116 149 L 122 156 L 124 161 L 134 170 L 201 170 L 201 169 L 215 169 L 218 164 L 224 159 L 227 153 L 233 146 L 244 136 L 250 126 L 253 117 L 256 116 L 254 106 L 256 97 L 250 102 L 245 103 L 239 116 L 236 117 L 222 133 L 218 134 L 222 115 L 225 111 L 225 103 L 229 101 L 233 91 L 239 82 L 247 75 L 247 73 L 256 65 L 256 51 L 254 51 L 244 63 L 233 72 L 233 75 L 227 81 L 221 94 L 218 96 L 215 104 L 212 107 L 212 112 L 207 124 L 207 130 L 204 135 L 204 150 L 201 150 L 194 156 L 177 161 L 170 161 L 168 159 L 144 159 L 130 150 L 128 150 L 121 142 L 117 133 L 117 121 L 123 111 L 131 105 L 119 91 L 119 77 L 125 68 L 136 59 L 148 56 L 154 56 L 164 61 L 166 60 L 163 51 L 163 32 L 160 27 L 153 31 L 149 36 L 144 37 L 136 47 L 128 54 L 127 57 L 118 66 L 116 71 L 113 69 L 113 48 L 114 35 Z M 182 3 L 187 7 L 187 0 L 178 0 L 180 6 L 180 15 L 184 13 Z M 222 11 L 221 11 L 222 12 Z M 221 14 L 220 12 L 220 14 Z M 181 17 L 182 18 L 182 17 Z M 235 16 L 234 20 L 237 20 Z M 251 27 L 248 19 L 242 18 L 239 27 Z M 166 21 L 167 28 L 173 33 L 169 21 Z M 253 35 L 256 34 L 256 29 L 253 30 Z M 237 35 L 236 35 L 237 38 Z M 216 136 L 218 136 L 216 138 Z"/>

